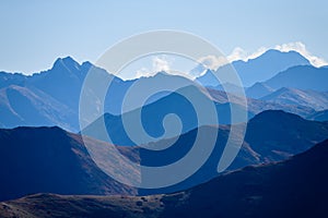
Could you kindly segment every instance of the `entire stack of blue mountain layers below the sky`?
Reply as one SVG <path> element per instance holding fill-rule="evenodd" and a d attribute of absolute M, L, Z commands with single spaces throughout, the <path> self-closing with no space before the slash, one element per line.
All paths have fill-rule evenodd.
<path fill-rule="evenodd" d="M 243 106 L 244 99 L 233 93 L 232 84 L 227 84 L 230 95 L 222 84 L 216 84 L 212 73 L 222 73 L 226 66 L 216 72 L 202 69 L 206 74 L 194 81 L 204 85 L 201 88 L 186 77 L 166 72 L 124 81 L 90 62 L 80 64 L 70 57 L 58 59 L 50 70 L 31 76 L 0 72 L 0 126 L 7 128 L 0 129 L 0 201 L 36 194 L 0 203 L 0 216 L 290 217 L 298 211 L 301 215 L 326 213 L 323 205 L 328 194 L 325 184 L 327 141 L 315 144 L 328 138 L 328 68 L 312 66 L 295 51 L 277 50 L 232 64 L 244 82 L 247 107 Z M 80 93 L 91 69 L 114 82 L 104 99 L 104 113 L 89 120 L 90 124 L 80 130 Z M 136 105 L 121 113 L 125 95 L 133 84 L 163 81 L 188 81 L 191 85 L 152 95 L 144 105 Z M 92 88 L 86 92 L 96 102 L 102 100 Z M 202 104 L 213 104 L 220 122 L 200 125 L 198 111 L 180 95 L 183 93 Z M 249 120 L 246 120 L 241 150 L 220 174 L 218 164 L 231 128 L 246 122 L 237 119 L 232 123 L 232 108 L 245 112 Z M 175 124 L 163 125 L 165 116 L 171 113 L 180 119 L 178 134 L 165 132 L 176 128 Z M 144 131 L 157 138 L 145 142 L 147 146 L 175 143 L 163 150 L 140 147 L 142 143 L 132 141 L 122 123 L 125 116 L 136 114 L 141 114 Z M 102 129 L 103 122 L 106 130 Z M 184 157 L 192 148 L 198 131 L 218 132 L 210 157 L 186 180 L 162 189 L 137 189 L 117 182 L 97 166 L 99 162 L 92 158 L 81 136 L 81 133 L 86 134 L 83 140 L 103 153 L 109 147 L 104 135 L 109 134 L 125 157 L 155 167 Z M 165 137 L 161 137 L 163 134 Z M 203 142 L 202 146 L 208 143 Z M 105 154 L 113 164 L 107 167 L 124 177 L 128 166 L 115 162 L 115 153 Z M 140 170 L 129 172 L 141 181 L 147 180 Z M 129 180 L 129 177 L 124 179 Z M 175 194 L 166 194 L 173 192 Z M 314 204 L 315 201 L 321 203 Z M 296 210 L 300 207 L 302 210 Z"/>

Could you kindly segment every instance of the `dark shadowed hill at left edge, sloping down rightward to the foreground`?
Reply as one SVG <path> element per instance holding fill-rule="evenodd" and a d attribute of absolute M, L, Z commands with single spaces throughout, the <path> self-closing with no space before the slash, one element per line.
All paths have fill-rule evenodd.
<path fill-rule="evenodd" d="M 0 201 L 38 192 L 137 194 L 95 165 L 81 136 L 59 128 L 0 130 Z M 105 146 L 94 140 L 90 143 Z M 129 154 L 138 159 L 138 154 Z"/>

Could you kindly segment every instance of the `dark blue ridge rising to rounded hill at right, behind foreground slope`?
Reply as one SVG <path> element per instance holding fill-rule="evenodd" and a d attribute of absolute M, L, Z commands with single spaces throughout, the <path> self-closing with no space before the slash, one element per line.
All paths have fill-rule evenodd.
<path fill-rule="evenodd" d="M 202 126 L 214 131 L 213 126 Z M 161 190 L 139 190 L 139 194 L 169 193 L 188 189 L 218 175 L 218 162 L 222 156 L 230 128 L 220 126 L 215 147 L 204 165 L 187 180 Z M 147 166 L 162 166 L 184 157 L 192 146 L 197 130 L 183 134 L 169 149 L 150 152 L 140 149 L 141 162 Z M 283 111 L 263 111 L 248 122 L 245 142 L 237 157 L 227 170 L 249 165 L 284 160 L 303 153 L 328 138 L 328 123 L 304 120 Z M 162 143 L 161 141 L 157 143 Z M 155 146 L 156 144 L 154 144 Z M 204 144 L 204 146 L 207 146 Z"/>

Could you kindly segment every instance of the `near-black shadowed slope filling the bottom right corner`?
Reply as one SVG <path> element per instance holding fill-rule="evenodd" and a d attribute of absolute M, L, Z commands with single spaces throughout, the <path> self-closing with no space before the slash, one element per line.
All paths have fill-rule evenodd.
<path fill-rule="evenodd" d="M 326 217 L 327 155 L 328 141 L 284 162 L 221 175 L 162 198 L 169 204 L 163 217 Z"/>

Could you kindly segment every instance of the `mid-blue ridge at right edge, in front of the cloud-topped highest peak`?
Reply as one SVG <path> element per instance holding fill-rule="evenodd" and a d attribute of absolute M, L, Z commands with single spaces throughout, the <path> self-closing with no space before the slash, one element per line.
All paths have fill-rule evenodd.
<path fill-rule="evenodd" d="M 250 98 L 327 109 L 328 69 L 297 65 L 246 88 Z"/>

